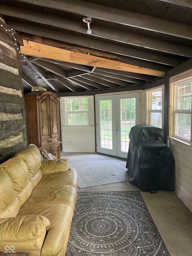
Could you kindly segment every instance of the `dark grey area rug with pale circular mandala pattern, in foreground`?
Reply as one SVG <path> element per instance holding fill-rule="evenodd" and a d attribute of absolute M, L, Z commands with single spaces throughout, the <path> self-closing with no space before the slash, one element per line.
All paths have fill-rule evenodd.
<path fill-rule="evenodd" d="M 139 191 L 78 192 L 67 256 L 170 256 Z"/>

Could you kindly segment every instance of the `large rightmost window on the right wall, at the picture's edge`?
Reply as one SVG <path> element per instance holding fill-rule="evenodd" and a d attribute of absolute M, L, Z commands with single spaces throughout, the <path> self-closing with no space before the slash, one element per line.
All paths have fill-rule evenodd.
<path fill-rule="evenodd" d="M 192 80 L 175 84 L 174 92 L 174 136 L 191 139 Z"/>

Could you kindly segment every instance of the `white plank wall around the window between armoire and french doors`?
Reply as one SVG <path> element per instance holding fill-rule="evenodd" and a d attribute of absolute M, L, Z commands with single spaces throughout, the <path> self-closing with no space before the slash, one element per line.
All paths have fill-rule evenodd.
<path fill-rule="evenodd" d="M 61 97 L 60 99 L 60 111 L 61 111 L 62 151 L 63 152 L 95 152 L 94 97 L 88 96 L 89 126 L 80 126 L 80 125 L 66 126 L 65 97 Z"/>

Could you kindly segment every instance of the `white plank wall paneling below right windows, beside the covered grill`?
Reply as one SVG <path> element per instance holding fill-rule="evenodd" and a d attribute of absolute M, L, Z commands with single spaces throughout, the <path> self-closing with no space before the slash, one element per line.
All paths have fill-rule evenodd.
<path fill-rule="evenodd" d="M 175 193 L 192 212 L 192 148 L 171 138 L 168 146 L 175 158 Z"/>

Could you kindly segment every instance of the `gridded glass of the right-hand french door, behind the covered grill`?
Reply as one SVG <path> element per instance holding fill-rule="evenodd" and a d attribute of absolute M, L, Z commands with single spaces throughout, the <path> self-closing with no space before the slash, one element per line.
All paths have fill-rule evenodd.
<path fill-rule="evenodd" d="M 125 98 L 120 100 L 120 117 L 121 117 L 121 151 L 128 152 L 129 132 L 135 125 L 135 98 Z"/>

